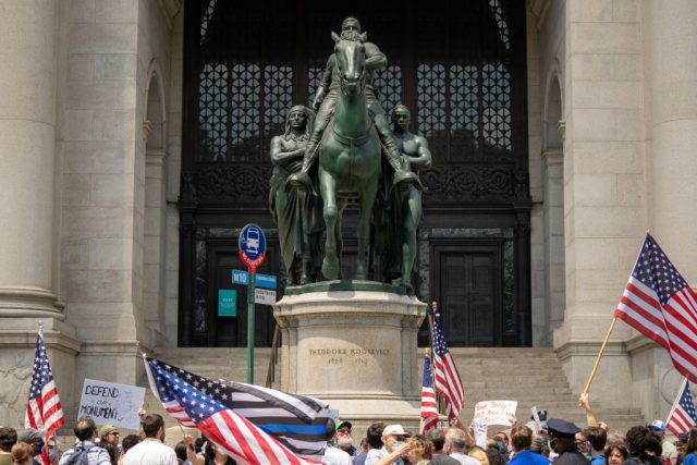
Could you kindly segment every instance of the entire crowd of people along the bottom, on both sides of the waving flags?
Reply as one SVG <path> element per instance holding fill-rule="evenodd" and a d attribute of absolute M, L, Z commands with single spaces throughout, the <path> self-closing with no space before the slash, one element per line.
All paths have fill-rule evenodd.
<path fill-rule="evenodd" d="M 364 437 L 354 435 L 351 421 L 328 421 L 328 465 L 697 465 L 697 427 L 671 440 L 665 425 L 655 420 L 626 432 L 611 431 L 597 421 L 588 399 L 582 396 L 588 425 L 582 429 L 560 418 L 518 425 L 496 432 L 484 442 L 455 420 L 449 428 L 432 428 L 426 435 L 401 425 L 374 423 Z M 89 417 L 74 426 L 74 444 L 61 452 L 54 437 L 44 438 L 34 429 L 17 432 L 0 427 L 0 465 L 234 465 L 235 462 L 205 437 L 182 431 L 181 441 L 164 443 L 164 420 L 142 412 L 139 435 L 121 438 L 117 427 L 100 428 Z M 676 439 L 676 440 L 675 440 Z"/>

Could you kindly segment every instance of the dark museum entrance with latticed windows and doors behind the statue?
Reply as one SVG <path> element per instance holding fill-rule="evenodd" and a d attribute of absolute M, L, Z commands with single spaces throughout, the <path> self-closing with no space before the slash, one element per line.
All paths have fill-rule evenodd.
<path fill-rule="evenodd" d="M 409 0 L 395 10 L 366 1 L 341 10 L 319 1 L 186 1 L 179 344 L 246 344 L 246 289 L 230 280 L 242 269 L 237 234 L 248 222 L 261 225 L 272 247 L 261 272 L 281 272 L 269 143 L 284 132 L 288 109 L 311 105 L 330 33 L 351 13 L 388 57 L 374 83 L 382 108 L 406 105 L 411 131 L 432 152 L 432 169 L 421 173 L 417 296 L 440 303 L 452 346 L 529 345 L 525 2 L 425 8 Z M 352 221 L 348 212 L 348 237 Z M 344 276 L 354 250 L 348 241 Z M 230 291 L 235 309 L 221 313 Z M 268 345 L 273 317 L 260 308 L 256 342 Z"/>

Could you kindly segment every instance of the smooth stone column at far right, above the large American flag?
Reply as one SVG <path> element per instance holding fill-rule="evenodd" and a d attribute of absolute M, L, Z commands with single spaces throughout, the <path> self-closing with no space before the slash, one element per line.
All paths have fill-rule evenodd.
<path fill-rule="evenodd" d="M 651 111 L 649 228 L 676 268 L 697 282 L 697 2 L 648 2 Z"/>

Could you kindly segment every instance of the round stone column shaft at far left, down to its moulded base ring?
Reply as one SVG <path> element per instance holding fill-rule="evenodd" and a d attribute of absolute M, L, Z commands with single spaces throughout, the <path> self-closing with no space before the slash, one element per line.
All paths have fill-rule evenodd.
<path fill-rule="evenodd" d="M 0 0 L 0 317 L 61 309 L 52 273 L 57 5 Z"/>

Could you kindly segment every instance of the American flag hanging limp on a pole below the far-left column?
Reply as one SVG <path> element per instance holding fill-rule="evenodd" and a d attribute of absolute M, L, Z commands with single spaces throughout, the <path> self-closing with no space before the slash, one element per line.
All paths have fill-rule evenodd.
<path fill-rule="evenodd" d="M 24 427 L 46 431 L 47 436 L 51 436 L 64 423 L 61 400 L 58 396 L 58 388 L 53 381 L 46 345 L 44 345 L 44 333 L 39 331 L 36 336 L 29 402 L 26 406 Z M 47 450 L 48 448 L 45 448 L 45 452 Z M 48 463 L 48 452 L 45 462 Z"/>

